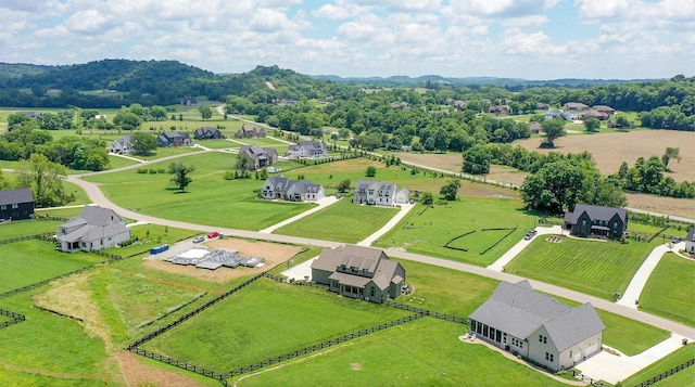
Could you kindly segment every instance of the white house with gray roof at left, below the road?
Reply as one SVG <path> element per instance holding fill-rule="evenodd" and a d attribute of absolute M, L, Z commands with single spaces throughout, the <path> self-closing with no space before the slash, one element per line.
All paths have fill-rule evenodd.
<path fill-rule="evenodd" d="M 55 232 L 62 251 L 100 250 L 130 238 L 126 221 L 112 209 L 87 206 Z"/>

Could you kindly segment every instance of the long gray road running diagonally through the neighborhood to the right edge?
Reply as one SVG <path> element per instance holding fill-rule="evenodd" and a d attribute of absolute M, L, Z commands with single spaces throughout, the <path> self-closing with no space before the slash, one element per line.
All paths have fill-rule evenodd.
<path fill-rule="evenodd" d="M 125 169 L 127 169 L 127 168 L 125 168 Z M 248 230 L 213 228 L 213 227 L 210 227 L 210 225 L 203 225 L 203 224 L 195 224 L 195 223 L 188 223 L 188 222 L 175 221 L 175 220 L 169 220 L 169 219 L 156 218 L 156 217 L 143 215 L 143 214 L 140 214 L 140 212 L 137 212 L 137 211 L 132 211 L 132 210 L 129 210 L 129 209 L 126 209 L 126 208 L 117 206 L 116 204 L 114 204 L 110 199 L 108 199 L 104 196 L 104 194 L 101 192 L 101 190 L 99 190 L 99 188 L 96 184 L 87 182 L 87 181 L 80 179 L 79 177 L 70 176 L 70 177 L 67 177 L 67 181 L 70 181 L 70 182 L 72 182 L 74 184 L 77 184 L 80 188 L 83 188 L 85 190 L 85 192 L 87 193 L 87 195 L 89 196 L 89 198 L 94 204 L 97 204 L 97 205 L 99 205 L 101 207 L 111 208 L 111 209 L 115 210 L 116 212 L 118 212 L 121 216 L 125 216 L 127 218 L 135 219 L 135 220 L 138 220 L 138 221 L 147 221 L 147 222 L 150 222 L 150 223 L 157 223 L 157 224 L 167 224 L 169 227 L 176 227 L 176 228 L 189 229 L 189 230 L 198 230 L 198 231 L 201 231 L 201 232 L 208 232 L 208 231 L 212 231 L 214 229 L 216 231 L 219 231 L 219 232 L 224 233 L 225 235 L 247 237 L 247 238 L 255 238 L 255 240 L 265 240 L 265 241 L 273 241 L 273 242 L 294 243 L 294 244 L 314 245 L 314 246 L 321 246 L 321 247 L 336 247 L 336 246 L 339 246 L 339 245 L 343 244 L 343 243 L 339 243 L 339 242 L 314 240 L 314 238 L 309 238 L 309 237 L 277 235 L 277 234 L 261 233 L 261 232 L 248 231 Z M 472 273 L 472 274 L 478 274 L 478 275 L 495 279 L 495 280 L 498 280 L 498 281 L 519 282 L 521 280 L 525 280 L 523 278 L 520 278 L 520 276 L 517 276 L 517 275 L 513 275 L 513 274 L 508 274 L 508 273 L 504 273 L 504 272 L 498 272 L 498 271 L 494 271 L 494 270 L 490 270 L 490 269 L 485 269 L 485 268 L 481 268 L 481 267 L 477 267 L 477 266 L 472 266 L 472 265 L 455 262 L 455 261 L 451 261 L 451 260 L 446 260 L 446 259 L 428 257 L 428 256 L 424 256 L 424 255 L 419 255 L 419 254 L 399 251 L 399 250 L 394 249 L 394 250 L 389 250 L 389 255 L 392 256 L 392 257 L 401 258 L 401 259 L 413 260 L 413 261 L 429 263 L 429 265 L 439 266 L 439 267 L 443 267 L 443 268 L 448 268 L 448 269 L 453 269 L 453 270 L 458 270 L 458 271 L 463 271 L 463 272 L 468 272 L 468 273 Z M 679 335 L 688 337 L 691 339 L 695 339 L 695 328 L 693 328 L 693 327 L 690 327 L 690 326 L 686 326 L 686 325 L 683 325 L 683 324 L 680 324 L 680 323 L 677 323 L 677 322 L 673 322 L 673 321 L 670 321 L 670 320 L 667 320 L 667 319 L 662 319 L 662 318 L 659 318 L 657 315 L 645 313 L 645 312 L 642 312 L 642 311 L 633 309 L 633 308 L 629 308 L 629 307 L 624 307 L 624 306 L 621 306 L 621 305 L 617 305 L 615 302 L 610 302 L 610 301 L 607 301 L 607 300 L 604 300 L 604 299 L 601 299 L 601 298 L 597 298 L 597 297 L 593 297 L 593 296 L 589 296 L 589 295 L 585 295 L 585 294 L 582 294 L 582 293 L 578 293 L 578 292 L 574 292 L 574 291 L 566 289 L 564 287 L 546 284 L 546 283 L 539 282 L 539 281 L 532 281 L 532 280 L 530 280 L 530 282 L 531 282 L 531 285 L 533 286 L 533 288 L 535 288 L 538 291 L 546 292 L 546 293 L 549 293 L 549 294 L 554 294 L 556 296 L 568 298 L 568 299 L 572 299 L 572 300 L 579 301 L 579 302 L 591 302 L 596 308 L 604 309 L 604 310 L 607 310 L 609 312 L 614 312 L 614 313 L 617 313 L 617 314 L 620 314 L 620 315 L 624 315 L 624 317 L 631 318 L 633 320 L 647 323 L 649 325 L 654 325 L 654 326 L 657 326 L 657 327 L 660 327 L 660 328 L 665 328 L 665 330 L 674 332 L 674 333 L 677 333 Z"/>

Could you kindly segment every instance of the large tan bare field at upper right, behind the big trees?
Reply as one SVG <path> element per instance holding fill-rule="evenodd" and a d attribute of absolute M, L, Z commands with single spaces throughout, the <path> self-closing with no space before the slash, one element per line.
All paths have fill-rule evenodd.
<path fill-rule="evenodd" d="M 582 134 L 563 137 L 555 141 L 554 150 L 539 149 L 539 139 L 515 141 L 513 145 L 521 145 L 539 153 L 559 152 L 580 153 L 587 151 L 594 156 L 596 166 L 603 175 L 618 171 L 620 164 L 627 162 L 631 167 L 640 157 L 649 158 L 664 154 L 667 146 L 680 147 L 681 162 L 671 160 L 667 173 L 675 181 L 695 181 L 695 133 L 675 130 L 640 130 L 633 132 L 615 132 L 605 134 Z"/>

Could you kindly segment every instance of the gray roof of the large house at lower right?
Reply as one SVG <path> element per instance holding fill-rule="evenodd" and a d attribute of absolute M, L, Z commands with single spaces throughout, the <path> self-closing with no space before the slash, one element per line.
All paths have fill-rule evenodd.
<path fill-rule="evenodd" d="M 545 325 L 560 351 L 606 328 L 591 304 L 571 308 L 534 292 L 528 281 L 500 283 L 492 296 L 470 314 L 470 319 L 518 338 L 527 338 Z"/>

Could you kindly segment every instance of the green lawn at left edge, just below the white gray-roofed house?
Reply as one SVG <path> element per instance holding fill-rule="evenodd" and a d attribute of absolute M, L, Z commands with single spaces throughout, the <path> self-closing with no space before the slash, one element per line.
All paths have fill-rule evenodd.
<path fill-rule="evenodd" d="M 55 245 L 28 240 L 0 245 L 0 293 L 49 280 L 105 258 L 84 251 L 61 253 Z"/>

